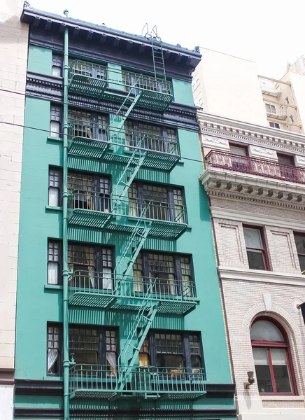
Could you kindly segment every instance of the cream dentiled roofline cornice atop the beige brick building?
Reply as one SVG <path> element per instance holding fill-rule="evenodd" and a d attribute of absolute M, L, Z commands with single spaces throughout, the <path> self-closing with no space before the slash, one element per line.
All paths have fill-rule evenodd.
<path fill-rule="evenodd" d="M 305 136 L 302 134 L 281 130 L 279 135 L 278 131 L 274 132 L 269 127 L 228 120 L 201 111 L 198 112 L 198 121 L 202 135 L 305 155 Z"/>

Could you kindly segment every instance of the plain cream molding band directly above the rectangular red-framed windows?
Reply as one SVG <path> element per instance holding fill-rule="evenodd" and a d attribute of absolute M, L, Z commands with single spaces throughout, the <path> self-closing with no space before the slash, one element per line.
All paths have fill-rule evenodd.
<path fill-rule="evenodd" d="M 297 230 L 298 232 L 305 232 L 305 214 L 304 221 L 295 218 L 282 218 L 274 216 L 273 214 L 253 213 L 252 211 L 241 211 L 236 209 L 227 209 L 222 207 L 210 207 L 212 218 L 222 218 L 229 221 L 239 221 L 247 223 L 248 225 L 257 226 L 276 226 L 286 229 Z"/>

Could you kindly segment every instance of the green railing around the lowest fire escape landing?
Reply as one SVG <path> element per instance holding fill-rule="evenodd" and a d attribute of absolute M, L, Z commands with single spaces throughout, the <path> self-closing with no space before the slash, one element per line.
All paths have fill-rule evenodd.
<path fill-rule="evenodd" d="M 126 393 L 201 393 L 206 391 L 202 367 L 74 365 L 69 372 L 69 391 L 118 392 L 120 374 L 127 373 Z"/>

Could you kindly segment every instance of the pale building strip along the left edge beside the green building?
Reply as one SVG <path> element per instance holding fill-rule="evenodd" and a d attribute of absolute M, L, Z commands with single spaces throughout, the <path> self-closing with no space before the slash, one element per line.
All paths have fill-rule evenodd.
<path fill-rule="evenodd" d="M 24 1 L 0 1 L 0 412 L 13 419 L 20 182 L 27 71 Z M 18 93 L 17 93 L 18 92 Z"/>

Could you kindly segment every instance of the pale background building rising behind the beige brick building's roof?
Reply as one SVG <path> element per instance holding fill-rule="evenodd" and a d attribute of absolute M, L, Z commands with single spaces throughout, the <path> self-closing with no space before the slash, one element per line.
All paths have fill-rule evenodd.
<path fill-rule="evenodd" d="M 193 74 L 194 102 L 218 116 L 305 133 L 305 64 L 300 58 L 276 80 L 259 76 L 257 64 L 200 48 Z"/>

